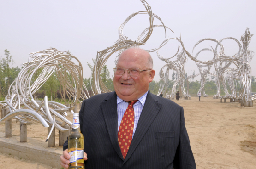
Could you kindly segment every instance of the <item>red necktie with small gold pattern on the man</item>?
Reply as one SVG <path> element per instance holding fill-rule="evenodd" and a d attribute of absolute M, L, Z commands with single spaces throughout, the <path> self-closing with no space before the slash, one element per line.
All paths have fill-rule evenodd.
<path fill-rule="evenodd" d="M 125 159 L 126 154 L 131 145 L 132 133 L 134 128 L 134 109 L 133 105 L 137 102 L 129 101 L 129 105 L 123 115 L 119 130 L 118 130 L 118 143 Z"/>

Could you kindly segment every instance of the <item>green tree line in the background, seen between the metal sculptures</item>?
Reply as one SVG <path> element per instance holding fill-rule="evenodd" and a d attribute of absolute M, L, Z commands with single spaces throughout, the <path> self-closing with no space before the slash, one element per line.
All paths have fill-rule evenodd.
<path fill-rule="evenodd" d="M 95 60 L 93 60 L 93 62 L 95 63 Z M 5 96 L 7 95 L 10 85 L 16 79 L 16 77 L 18 76 L 18 73 L 21 70 L 20 68 L 18 68 L 18 66 L 12 67 L 12 65 L 14 63 L 15 63 L 15 61 L 12 59 L 12 55 L 11 55 L 10 51 L 5 50 L 4 56 L 0 55 L 0 101 L 5 99 Z M 88 62 L 87 62 L 87 65 L 92 70 L 93 66 Z M 41 72 L 42 72 L 42 69 L 39 69 L 34 74 L 31 83 L 33 83 L 36 80 L 36 78 L 40 75 Z M 194 74 L 194 72 L 193 72 L 193 74 Z M 107 65 L 105 65 L 102 68 L 100 76 L 101 76 L 103 83 L 106 85 L 106 87 L 109 90 L 114 91 L 113 76 L 110 77 L 110 72 L 107 69 Z M 187 78 L 187 73 L 185 74 L 185 76 L 186 76 L 185 78 Z M 168 91 L 172 90 L 173 84 L 177 80 L 177 73 L 173 72 L 171 78 L 172 79 L 168 79 L 168 82 L 167 82 L 167 90 Z M 217 92 L 217 87 L 216 87 L 214 78 L 215 78 L 214 76 L 208 76 L 208 78 L 206 79 L 204 90 L 205 90 L 205 93 L 208 95 L 214 95 Z M 252 92 L 256 92 L 255 79 L 256 78 L 254 76 L 252 76 Z M 84 82 L 87 90 L 89 91 L 89 95 L 91 96 L 92 91 L 91 91 L 91 87 L 90 87 L 90 80 L 91 80 L 90 78 L 88 78 L 88 79 L 84 78 L 83 82 Z M 200 89 L 201 83 L 198 80 L 194 81 L 194 78 L 192 78 L 191 80 L 189 81 L 189 93 L 191 96 L 194 96 L 194 95 L 196 96 L 197 91 Z M 236 82 L 237 82 L 236 90 L 239 92 L 239 87 L 240 87 L 239 80 L 237 80 Z M 160 81 L 157 82 L 157 81 L 153 80 L 149 84 L 150 92 L 157 95 L 159 86 L 160 86 Z M 185 90 L 187 91 L 186 80 L 185 80 L 184 86 L 185 86 Z M 231 92 L 229 85 L 227 85 L 227 89 L 229 92 Z M 176 86 L 176 90 L 180 90 L 179 84 Z M 42 87 L 36 91 L 36 93 L 34 95 L 38 99 L 43 99 L 44 96 L 47 95 L 49 100 L 52 97 L 53 101 L 60 101 L 61 93 L 63 93 L 63 91 L 60 90 L 60 82 L 57 78 L 56 73 L 54 72 L 50 76 L 50 78 L 42 85 Z M 225 95 L 223 90 L 221 90 L 221 95 Z"/>

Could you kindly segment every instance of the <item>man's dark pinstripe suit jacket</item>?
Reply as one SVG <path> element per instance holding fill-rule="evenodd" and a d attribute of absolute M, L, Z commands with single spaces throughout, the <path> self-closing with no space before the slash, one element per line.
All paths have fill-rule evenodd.
<path fill-rule="evenodd" d="M 148 93 L 125 159 L 117 140 L 115 92 L 84 100 L 79 115 L 85 169 L 196 169 L 183 108 L 173 101 Z"/>

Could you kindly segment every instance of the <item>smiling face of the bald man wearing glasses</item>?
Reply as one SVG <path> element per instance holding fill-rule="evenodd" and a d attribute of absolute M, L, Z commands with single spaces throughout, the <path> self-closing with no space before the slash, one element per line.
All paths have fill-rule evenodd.
<path fill-rule="evenodd" d="M 124 51 L 117 62 L 116 67 L 125 69 L 139 68 L 149 69 L 148 53 L 141 49 L 128 49 Z M 155 75 L 154 70 L 143 71 L 139 76 L 130 76 L 125 70 L 123 75 L 114 75 L 113 84 L 117 96 L 125 101 L 137 100 L 149 90 L 149 83 Z"/>

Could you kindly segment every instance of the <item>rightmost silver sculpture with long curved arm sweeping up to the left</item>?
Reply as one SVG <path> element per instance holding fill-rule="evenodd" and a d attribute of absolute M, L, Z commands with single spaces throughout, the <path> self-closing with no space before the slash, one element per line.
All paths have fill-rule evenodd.
<path fill-rule="evenodd" d="M 204 65 L 213 65 L 215 66 L 216 71 L 216 85 L 217 85 L 217 94 L 215 96 L 218 96 L 220 98 L 238 98 L 242 102 L 244 101 L 244 106 L 252 106 L 252 101 L 255 100 L 255 96 L 251 96 L 251 67 L 250 67 L 250 61 L 254 55 L 253 51 L 248 50 L 248 45 L 250 43 L 250 40 L 252 38 L 253 34 L 250 34 L 249 28 L 246 28 L 244 35 L 241 37 L 241 41 L 243 43 L 243 46 L 240 44 L 240 42 L 235 38 L 224 38 L 220 41 L 216 39 L 202 39 L 196 43 L 195 47 L 200 44 L 203 41 L 210 40 L 217 43 L 215 50 L 214 49 L 202 49 L 212 51 L 214 53 L 214 58 L 210 61 L 200 61 L 196 59 L 196 57 L 191 56 L 191 54 L 185 50 L 184 44 L 181 40 L 179 42 L 181 43 L 183 49 L 185 50 L 185 53 L 188 57 L 191 58 L 191 60 L 204 64 Z M 221 44 L 221 42 L 225 39 L 232 39 L 234 40 L 238 46 L 239 51 L 234 56 L 227 56 L 224 53 L 224 46 Z M 217 48 L 220 46 L 220 51 L 217 52 Z M 236 66 L 236 68 L 230 68 L 230 65 L 233 64 Z M 232 84 L 232 80 L 240 79 L 240 92 L 239 96 L 235 96 L 236 92 L 232 90 L 232 94 L 230 95 L 226 89 L 226 80 L 224 78 L 224 73 L 227 73 L 227 78 L 229 78 L 231 81 L 229 81 L 229 84 L 231 85 L 232 89 L 234 89 L 234 85 Z M 236 78 L 235 78 L 236 77 Z M 226 96 L 220 96 L 220 83 L 224 86 L 224 91 L 226 93 Z"/>

